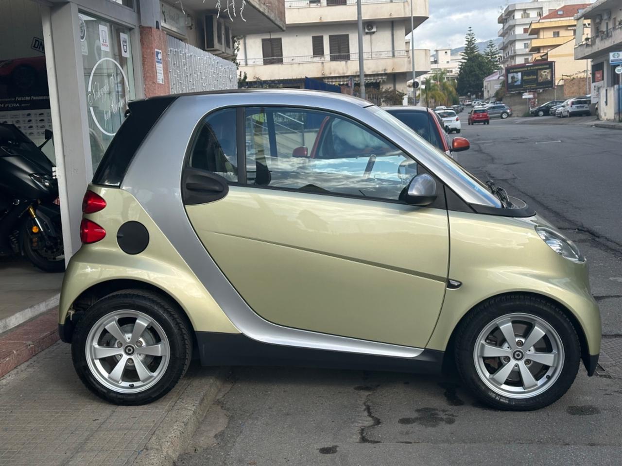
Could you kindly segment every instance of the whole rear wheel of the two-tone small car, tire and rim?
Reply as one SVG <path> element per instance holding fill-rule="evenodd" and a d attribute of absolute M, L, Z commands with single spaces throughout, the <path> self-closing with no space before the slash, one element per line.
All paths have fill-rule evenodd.
<path fill-rule="evenodd" d="M 185 319 L 160 296 L 112 293 L 78 321 L 73 365 L 95 395 L 116 404 L 151 403 L 186 372 L 192 338 Z"/>

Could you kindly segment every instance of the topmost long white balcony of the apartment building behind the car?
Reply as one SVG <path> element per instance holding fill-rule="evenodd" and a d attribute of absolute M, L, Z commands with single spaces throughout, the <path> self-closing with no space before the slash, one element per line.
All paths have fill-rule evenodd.
<path fill-rule="evenodd" d="M 407 0 L 362 0 L 365 21 L 397 21 L 410 19 L 411 4 Z M 415 27 L 429 16 L 428 2 L 415 2 Z M 287 26 L 356 22 L 356 0 L 288 0 L 285 2 Z M 410 32 L 410 21 L 406 34 Z"/>

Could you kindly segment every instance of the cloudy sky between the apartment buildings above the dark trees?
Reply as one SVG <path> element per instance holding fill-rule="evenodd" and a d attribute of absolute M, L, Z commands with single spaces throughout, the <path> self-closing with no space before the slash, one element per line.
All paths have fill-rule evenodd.
<path fill-rule="evenodd" d="M 421 0 L 414 0 L 415 2 Z M 429 0 L 430 17 L 415 29 L 415 48 L 456 48 L 473 27 L 478 42 L 497 37 L 499 11 L 505 0 Z M 434 53 L 434 52 L 433 52 Z"/>

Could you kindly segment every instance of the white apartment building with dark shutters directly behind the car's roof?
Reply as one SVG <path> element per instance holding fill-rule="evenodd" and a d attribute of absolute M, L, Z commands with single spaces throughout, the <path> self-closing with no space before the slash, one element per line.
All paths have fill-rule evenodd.
<path fill-rule="evenodd" d="M 406 0 L 363 0 L 366 86 L 406 93 L 412 77 L 411 4 Z M 414 2 L 415 28 L 428 17 L 428 0 Z M 241 40 L 239 70 L 248 81 L 298 86 L 305 77 L 326 83 L 359 82 L 356 0 L 285 0 L 285 30 L 250 34 Z M 415 49 L 416 76 L 430 70 L 430 51 Z"/>

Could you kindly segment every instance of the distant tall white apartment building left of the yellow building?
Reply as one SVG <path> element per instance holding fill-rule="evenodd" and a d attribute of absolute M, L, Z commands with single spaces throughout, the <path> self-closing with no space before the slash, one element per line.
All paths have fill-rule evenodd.
<path fill-rule="evenodd" d="M 529 24 L 549 14 L 550 11 L 572 2 L 572 0 L 533 0 L 506 6 L 497 19 L 497 22 L 502 25 L 498 32 L 499 37 L 503 38 L 499 46 L 501 65 L 506 67 L 531 62 L 529 42 L 537 39 L 537 35 L 527 34 Z"/>

